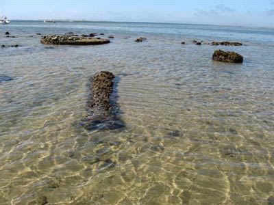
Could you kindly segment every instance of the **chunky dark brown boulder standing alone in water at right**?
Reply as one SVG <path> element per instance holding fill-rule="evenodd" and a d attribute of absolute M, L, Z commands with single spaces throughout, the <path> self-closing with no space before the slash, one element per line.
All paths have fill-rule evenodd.
<path fill-rule="evenodd" d="M 228 63 L 242 63 L 243 61 L 242 55 L 235 52 L 225 52 L 221 50 L 214 51 L 212 59 L 214 61 L 223 61 Z"/>

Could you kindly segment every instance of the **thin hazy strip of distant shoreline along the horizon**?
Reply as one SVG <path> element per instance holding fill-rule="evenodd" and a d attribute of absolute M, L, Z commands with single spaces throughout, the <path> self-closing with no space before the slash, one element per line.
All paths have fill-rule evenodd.
<path fill-rule="evenodd" d="M 10 19 L 10 21 L 43 21 L 45 19 Z M 54 19 L 56 22 L 94 22 L 94 23 L 158 23 L 158 24 L 175 24 L 175 25 L 204 25 L 204 26 L 216 26 L 216 27 L 242 27 L 249 29 L 274 29 L 274 27 L 260 27 L 260 26 L 247 26 L 247 25 L 214 25 L 214 24 L 202 24 L 202 23 L 162 23 L 162 22 L 130 22 L 130 21 L 112 21 L 112 20 L 73 20 L 73 19 Z"/>

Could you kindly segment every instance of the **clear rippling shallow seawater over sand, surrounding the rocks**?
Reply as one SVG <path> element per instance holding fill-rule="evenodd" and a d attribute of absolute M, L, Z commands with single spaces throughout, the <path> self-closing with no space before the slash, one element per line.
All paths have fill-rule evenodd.
<path fill-rule="evenodd" d="M 69 31 L 114 39 L 36 35 Z M 274 29 L 13 21 L 0 44 L 19 45 L 0 48 L 0 204 L 274 204 Z M 81 126 L 100 70 L 116 75 L 125 128 Z"/>

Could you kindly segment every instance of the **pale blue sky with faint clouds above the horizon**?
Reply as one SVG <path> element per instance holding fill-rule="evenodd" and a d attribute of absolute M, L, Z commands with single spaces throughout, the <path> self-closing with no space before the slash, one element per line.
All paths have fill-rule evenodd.
<path fill-rule="evenodd" d="M 274 27 L 274 0 L 0 0 L 10 19 L 75 19 Z"/>

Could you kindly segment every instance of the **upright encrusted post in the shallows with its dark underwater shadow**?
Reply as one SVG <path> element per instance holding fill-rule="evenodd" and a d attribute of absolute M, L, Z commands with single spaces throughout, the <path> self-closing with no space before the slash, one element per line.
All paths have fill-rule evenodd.
<path fill-rule="evenodd" d="M 108 79 L 101 79 L 101 85 L 96 84 L 96 77 L 98 78 L 102 74 L 106 74 Z M 88 81 L 88 90 L 90 92 L 87 102 L 88 116 L 82 120 L 82 126 L 88 131 L 121 130 L 125 128 L 125 122 L 120 118 L 122 112 L 117 103 L 119 99 L 117 90 L 119 81 L 120 77 L 114 77 L 111 72 L 106 71 L 97 72 L 93 77 L 90 77 Z"/>

